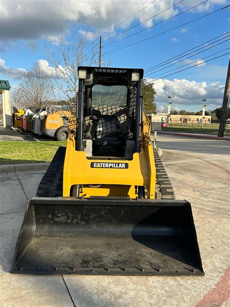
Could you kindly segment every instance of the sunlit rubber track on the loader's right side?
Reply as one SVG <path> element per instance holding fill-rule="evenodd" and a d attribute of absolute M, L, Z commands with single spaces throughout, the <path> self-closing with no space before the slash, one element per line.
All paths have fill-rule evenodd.
<path fill-rule="evenodd" d="M 164 169 L 164 165 L 161 161 L 157 149 L 153 149 L 155 168 L 156 168 L 156 181 L 160 188 L 162 199 L 175 199 L 174 189 L 168 178 L 168 175 Z"/>

